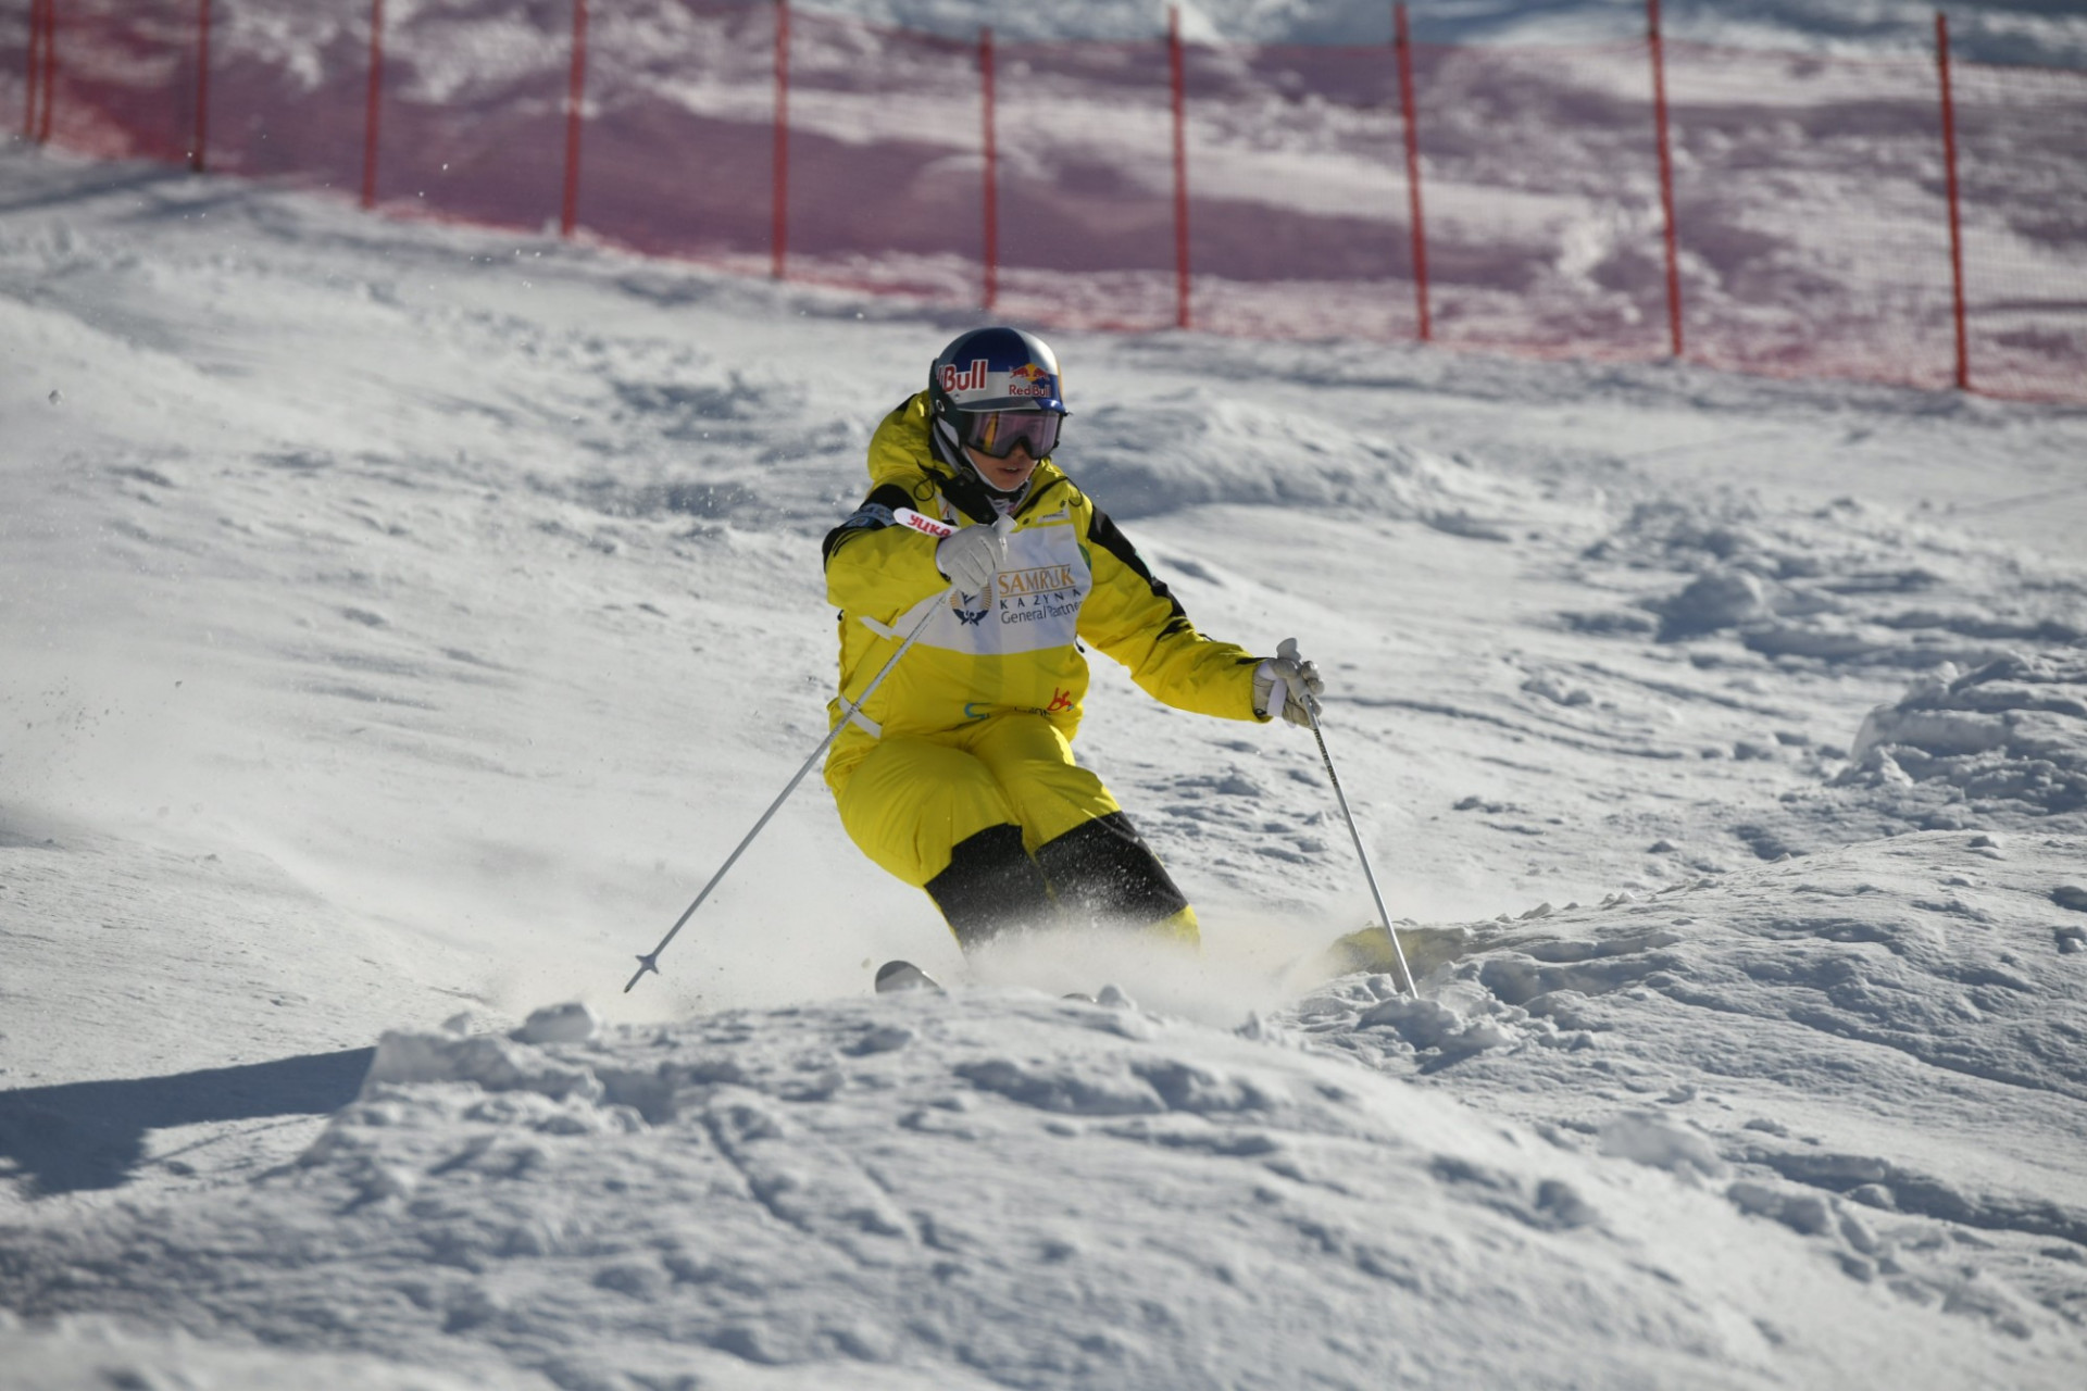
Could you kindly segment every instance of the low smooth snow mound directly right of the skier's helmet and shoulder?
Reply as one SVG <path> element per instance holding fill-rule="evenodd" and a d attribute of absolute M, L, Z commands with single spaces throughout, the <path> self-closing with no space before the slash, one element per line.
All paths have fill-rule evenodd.
<path fill-rule="evenodd" d="M 1413 444 L 1361 434 L 1334 413 L 1298 413 L 1190 388 L 1108 402 L 1073 421 L 1060 461 L 1114 517 L 1238 503 L 1357 511 L 1505 538 L 1473 509 L 1498 484 Z"/>

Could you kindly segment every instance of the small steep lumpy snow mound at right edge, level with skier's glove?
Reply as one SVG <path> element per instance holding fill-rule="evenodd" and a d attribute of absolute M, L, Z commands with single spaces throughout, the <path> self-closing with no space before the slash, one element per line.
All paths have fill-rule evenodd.
<path fill-rule="evenodd" d="M 1841 786 L 1956 788 L 1974 811 L 2087 809 L 2087 653 L 1930 676 L 1862 722 Z"/>

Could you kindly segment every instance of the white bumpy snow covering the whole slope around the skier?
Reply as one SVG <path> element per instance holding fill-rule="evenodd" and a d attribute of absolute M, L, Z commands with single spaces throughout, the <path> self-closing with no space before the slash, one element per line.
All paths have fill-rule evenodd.
<path fill-rule="evenodd" d="M 0 202 L 0 1387 L 2087 1374 L 2081 411 L 1054 332 L 1069 471 L 1325 674 L 1419 999 L 1334 951 L 1311 736 L 1106 661 L 1200 955 L 966 963 L 806 786 L 626 995 L 824 734 L 818 538 L 970 317 Z"/>

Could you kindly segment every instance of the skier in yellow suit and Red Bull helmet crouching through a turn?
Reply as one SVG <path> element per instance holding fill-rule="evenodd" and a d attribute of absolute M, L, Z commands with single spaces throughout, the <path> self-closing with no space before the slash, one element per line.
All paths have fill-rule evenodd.
<path fill-rule="evenodd" d="M 870 440 L 870 494 L 826 534 L 849 728 L 826 757 L 841 824 L 925 888 L 966 951 L 1071 922 L 1194 943 L 1196 913 L 1102 780 L 1073 761 L 1081 642 L 1154 699 L 1227 719 L 1311 724 L 1309 661 L 1215 642 L 1054 463 L 1066 409 L 1056 355 L 973 330 Z M 954 523 L 943 538 L 902 509 Z M 929 613 L 933 611 L 933 617 Z M 906 634 L 920 636 L 866 703 Z"/>

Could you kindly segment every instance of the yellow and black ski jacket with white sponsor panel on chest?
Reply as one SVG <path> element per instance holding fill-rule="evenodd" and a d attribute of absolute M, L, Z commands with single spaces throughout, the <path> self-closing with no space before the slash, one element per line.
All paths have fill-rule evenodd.
<path fill-rule="evenodd" d="M 927 392 L 883 419 L 870 438 L 870 494 L 826 534 L 826 599 L 841 609 L 841 697 L 826 709 L 849 719 L 826 757 L 831 786 L 883 736 L 935 736 L 1002 711 L 1039 711 L 1073 738 L 1087 697 L 1081 642 L 1167 705 L 1265 719 L 1254 713 L 1261 659 L 1196 632 L 1117 523 L 1050 459 L 1014 511 L 995 592 L 952 594 L 935 538 L 895 526 L 895 509 L 956 526 L 991 526 L 998 513 L 975 478 L 935 455 L 931 428 Z M 922 619 L 920 638 L 851 711 Z"/>

